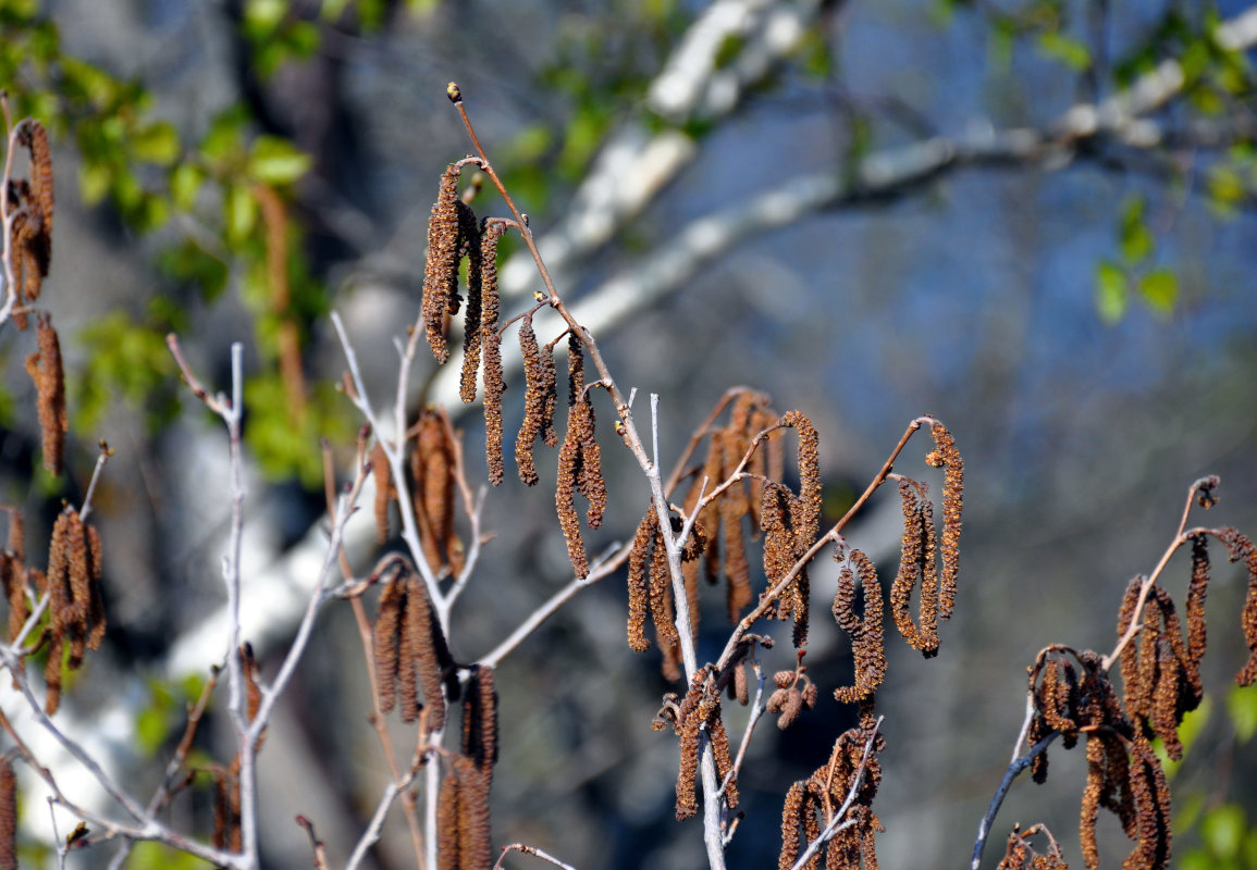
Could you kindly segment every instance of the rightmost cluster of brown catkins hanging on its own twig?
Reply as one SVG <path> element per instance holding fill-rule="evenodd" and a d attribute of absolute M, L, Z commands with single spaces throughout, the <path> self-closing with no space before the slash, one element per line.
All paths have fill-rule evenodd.
<path fill-rule="evenodd" d="M 1214 503 L 1218 480 L 1199 481 L 1199 503 Z M 1192 579 L 1187 593 L 1187 635 L 1169 593 L 1148 577 L 1130 581 L 1117 616 L 1121 701 L 1099 655 L 1067 647 L 1048 647 L 1029 669 L 1035 717 L 1027 746 L 1058 733 L 1065 748 L 1086 734 L 1087 782 L 1082 793 L 1080 835 L 1087 867 L 1100 865 L 1096 817 L 1104 807 L 1115 814 L 1135 847 L 1123 866 L 1160 870 L 1170 861 L 1170 793 L 1151 741 L 1160 738 L 1170 758 L 1183 757 L 1179 726 L 1203 697 L 1200 660 L 1204 657 L 1204 601 L 1209 583 L 1209 537 L 1219 540 L 1231 561 L 1244 562 L 1248 593 L 1242 628 L 1249 658 L 1236 680 L 1249 685 L 1257 679 L 1257 549 L 1231 527 L 1193 529 L 1183 539 L 1192 547 Z M 1140 610 L 1140 599 L 1143 609 Z M 1138 634 L 1128 638 L 1131 625 Z M 1035 757 L 1037 782 L 1047 777 L 1047 753 Z"/>

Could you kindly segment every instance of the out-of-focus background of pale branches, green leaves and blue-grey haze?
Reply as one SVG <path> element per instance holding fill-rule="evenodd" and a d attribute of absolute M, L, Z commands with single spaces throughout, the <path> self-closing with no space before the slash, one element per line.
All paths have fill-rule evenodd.
<path fill-rule="evenodd" d="M 40 304 L 60 331 L 74 438 L 64 480 L 48 477 L 20 372 L 33 339 L 8 330 L 0 486 L 28 540 L 82 500 L 96 442 L 117 451 L 96 495 L 109 652 L 67 716 L 145 793 L 185 695 L 222 655 L 207 614 L 221 604 L 225 436 L 181 388 L 167 331 L 221 388 L 230 343 L 245 348 L 248 583 L 270 595 L 253 636 L 264 672 L 277 667 L 300 600 L 284 590 L 313 580 L 324 540 L 319 439 L 348 470 L 361 422 L 333 388 L 344 358 L 328 313 L 376 405 L 391 402 L 437 180 L 470 149 L 453 79 L 559 293 L 637 388 L 639 424 L 660 395 L 665 467 L 727 388 L 766 390 L 816 422 L 832 524 L 909 421 L 952 428 L 968 472 L 957 614 L 938 659 L 890 643 L 875 810 L 882 866 L 967 862 L 1036 653 L 1112 648 L 1126 581 L 1155 566 L 1198 477 L 1222 476 L 1222 502 L 1194 522 L 1257 534 L 1254 15 L 1178 0 L 0 0 L 0 84 L 14 118 L 54 136 Z M 507 213 L 490 192 L 474 206 Z M 539 286 L 519 247 L 504 242 L 508 316 Z M 421 354 L 410 398 L 446 403 L 478 485 L 483 422 L 450 374 Z M 631 537 L 647 497 L 612 408 L 600 413 L 611 508 L 591 550 Z M 899 470 L 924 473 L 928 449 L 914 442 Z M 508 473 L 488 495 L 495 537 L 453 616 L 460 660 L 569 580 L 554 456 L 539 456 L 541 487 Z M 848 535 L 886 583 L 897 517 L 881 492 Z M 373 541 L 351 552 L 358 571 L 376 555 Z M 1182 866 L 1257 867 L 1257 702 L 1232 680 L 1244 575 L 1221 547 L 1213 559 L 1212 701 L 1173 773 L 1174 849 Z M 827 615 L 835 577 L 813 572 L 822 689 L 850 668 Z M 1187 577 L 1175 557 L 1164 583 L 1180 603 Z M 711 593 L 700 658 L 728 636 Z M 672 820 L 676 741 L 650 728 L 676 687 L 655 650 L 627 649 L 625 600 L 621 572 L 502 663 L 494 842 L 579 870 L 703 866 L 700 824 Z M 791 667 L 788 633 L 766 630 L 781 642 L 767 670 Z M 386 781 L 347 611 L 321 618 L 289 698 L 261 756 L 266 860 L 308 865 L 300 812 L 336 865 Z M 735 739 L 743 716 L 728 713 Z M 786 790 L 852 721 L 822 690 L 788 732 L 763 723 L 730 867 L 772 865 Z M 206 755 L 228 752 L 224 726 L 207 723 Z M 985 866 L 1013 822 L 1040 821 L 1081 866 L 1081 756 L 1053 747 L 1048 782 L 1018 782 Z M 204 798 L 173 821 L 204 831 Z M 1129 845 L 1112 819 L 1101 835 L 1111 866 Z M 141 851 L 132 866 L 173 860 Z M 400 820 L 372 860 L 414 865 Z"/>

